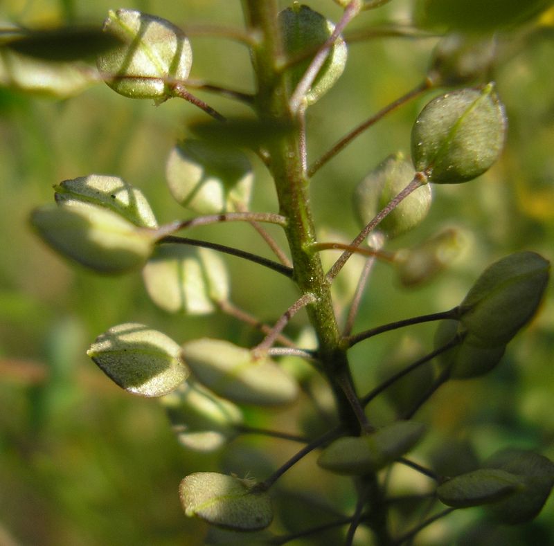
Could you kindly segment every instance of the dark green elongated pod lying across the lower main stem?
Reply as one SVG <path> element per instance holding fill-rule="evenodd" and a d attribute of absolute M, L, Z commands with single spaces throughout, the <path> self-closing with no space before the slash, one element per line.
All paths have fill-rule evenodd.
<path fill-rule="evenodd" d="M 397 421 L 370 435 L 335 440 L 321 452 L 317 464 L 337 474 L 374 473 L 410 451 L 424 434 L 425 425 Z"/>

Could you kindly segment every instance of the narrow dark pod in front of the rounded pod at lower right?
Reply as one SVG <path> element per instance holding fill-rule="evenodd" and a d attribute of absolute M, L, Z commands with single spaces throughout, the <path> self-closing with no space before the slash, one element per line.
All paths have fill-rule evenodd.
<path fill-rule="evenodd" d="M 497 502 L 522 486 L 523 480 L 517 475 L 498 468 L 479 468 L 440 484 L 437 496 L 447 506 L 467 508 Z"/>

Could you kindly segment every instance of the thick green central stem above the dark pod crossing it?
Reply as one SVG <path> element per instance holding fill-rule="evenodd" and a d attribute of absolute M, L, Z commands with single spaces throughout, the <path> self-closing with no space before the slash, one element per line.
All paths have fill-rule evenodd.
<path fill-rule="evenodd" d="M 243 0 L 247 25 L 260 36 L 252 47 L 253 66 L 258 93 L 256 110 L 268 124 L 292 127 L 287 134 L 268 145 L 269 169 L 274 177 L 280 215 L 287 218 L 284 227 L 294 268 L 294 281 L 302 295 L 313 295 L 306 310 L 319 340 L 318 358 L 334 390 L 342 423 L 352 432 L 359 431 L 359 421 L 339 378 L 350 377 L 346 351 L 341 347 L 341 334 L 334 316 L 330 284 L 325 280 L 319 253 L 311 250 L 316 240 L 308 180 L 303 163 L 303 113 L 289 107 L 291 90 L 283 73 L 278 71 L 282 58 L 278 5 L 276 0 Z M 302 109 L 301 109 L 302 110 Z"/>

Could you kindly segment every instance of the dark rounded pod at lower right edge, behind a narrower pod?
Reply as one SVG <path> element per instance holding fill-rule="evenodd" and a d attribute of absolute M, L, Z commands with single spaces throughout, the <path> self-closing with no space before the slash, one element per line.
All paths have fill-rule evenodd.
<path fill-rule="evenodd" d="M 550 459 L 532 451 L 506 449 L 487 459 L 485 467 L 516 475 L 522 482 L 514 494 L 486 507 L 495 520 L 517 525 L 539 514 L 554 486 L 554 463 Z"/>

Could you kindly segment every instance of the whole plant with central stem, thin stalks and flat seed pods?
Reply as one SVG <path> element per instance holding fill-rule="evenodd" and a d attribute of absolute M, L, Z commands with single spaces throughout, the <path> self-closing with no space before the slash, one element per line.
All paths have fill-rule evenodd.
<path fill-rule="evenodd" d="M 168 151 L 170 193 L 193 217 L 160 225 L 140 190 L 118 176 L 90 174 L 56 185 L 55 203 L 34 210 L 31 223 L 46 244 L 81 266 L 109 274 L 141 270 L 152 302 L 163 311 L 201 315 L 220 310 L 264 334 L 253 347 L 207 335 L 193 340 L 184 336 L 177 343 L 151 326 L 127 322 L 100 334 L 88 350 L 121 388 L 160 397 L 184 448 L 224 450 L 247 434 L 304 444 L 268 475 L 206 471 L 184 477 L 179 495 L 186 516 L 231 529 L 242 544 L 285 544 L 325 534 L 337 540 L 342 529 L 338 540 L 344 545 L 357 540 L 408 545 L 427 527 L 467 507 L 484 507 L 492 521 L 502 524 L 527 522 L 541 511 L 554 483 L 554 464 L 546 457 L 506 449 L 482 462 L 476 458 L 471 468 L 444 473 L 440 465 L 434 466 L 433 457 L 420 463 L 407 454 L 425 445 L 433 433 L 415 419 L 420 408 L 432 406 L 433 394 L 449 381 L 493 370 L 510 340 L 535 316 L 548 283 L 548 260 L 532 251 L 512 253 L 489 265 L 453 309 L 352 331 L 375 262 L 387 262 L 397 269 L 402 284 L 414 286 L 431 282 L 456 257 L 463 237 L 454 228 L 400 250 L 395 250 L 395 239 L 425 222 L 433 185 L 472 181 L 502 154 L 506 109 L 490 81 L 499 58 L 497 37 L 517 31 L 551 2 L 510 1 L 484 13 L 475 1 L 418 2 L 413 26 L 384 29 L 411 37 L 443 35 L 422 84 L 310 163 L 309 138 L 318 128 L 310 125 L 307 110 L 332 93 L 341 77 L 351 22 L 388 1 L 336 3 L 343 12 L 332 23 L 298 2 L 283 10 L 275 0 L 242 2 L 245 28 L 227 29 L 226 36 L 249 49 L 256 82 L 251 93 L 189 81 L 193 48 L 186 33 L 170 21 L 136 10 L 110 11 L 103 30 L 4 31 L 0 80 L 11 87 L 69 96 L 103 81 L 126 98 L 157 104 L 183 98 L 213 118 L 192 128 L 195 138 L 181 140 Z M 323 2 L 321 9 L 327 10 Z M 367 37 L 372 37 L 370 31 Z M 85 63 L 91 57 L 96 58 L 96 69 Z M 191 93 L 195 86 L 245 103 L 253 115 L 216 111 Z M 316 173 L 377 120 L 429 92 L 434 96 L 413 120 L 411 158 L 391 150 L 379 165 L 367 165 L 368 175 L 355 189 L 359 233 L 349 244 L 322 240 L 310 201 L 310 192 L 318 191 Z M 337 109 L 347 107 L 337 104 Z M 253 158 L 274 181 L 278 212 L 250 209 L 256 188 Z M 472 191 L 472 185 L 456 191 Z M 345 199 L 339 185 L 335 199 Z M 240 244 L 235 248 L 182 235 L 198 226 L 231 222 L 256 228 L 275 260 L 244 251 Z M 263 224 L 283 230 L 286 251 Z M 341 255 L 325 271 L 321 255 L 329 249 Z M 230 279 L 222 255 L 286 277 L 296 287 L 296 301 L 272 325 L 238 309 L 229 300 L 229 286 L 248 280 Z M 343 302 L 334 301 L 331 289 L 353 255 L 365 257 L 366 265 L 343 320 L 336 312 Z M 271 307 L 269 286 L 252 297 L 266 298 Z M 301 310 L 315 340 L 310 347 L 287 335 L 289 322 Z M 388 331 L 433 321 L 438 321 L 434 347 L 410 353 L 411 361 L 400 367 L 392 363 L 385 379 L 359 392 L 349 361 L 352 347 Z M 391 361 L 394 358 L 391 354 Z M 397 409 L 385 422 L 372 410 L 372 403 L 382 397 Z M 258 414 L 283 406 L 298 408 L 299 426 L 280 431 L 256 426 Z M 316 415 L 313 422 L 304 426 L 311 415 Z M 305 432 L 295 433 L 302 426 Z M 313 464 L 352 482 L 354 502 L 333 500 L 337 513 L 319 524 L 312 523 L 315 509 L 306 503 L 300 516 L 305 526 L 289 529 L 280 479 L 312 451 L 319 453 Z M 426 491 L 395 497 L 388 482 L 399 465 L 428 479 Z M 324 499 L 318 502 L 325 504 Z M 231 540 L 223 537 L 212 534 L 208 541 Z"/>

